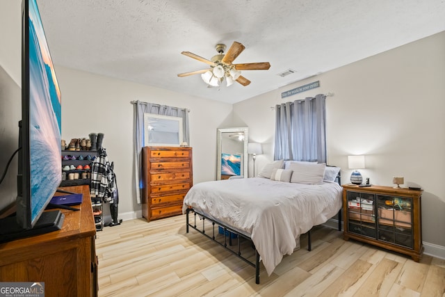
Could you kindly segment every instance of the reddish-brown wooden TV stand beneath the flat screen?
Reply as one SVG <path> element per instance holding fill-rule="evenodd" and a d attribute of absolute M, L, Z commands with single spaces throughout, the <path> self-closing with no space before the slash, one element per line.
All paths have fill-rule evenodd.
<path fill-rule="evenodd" d="M 61 189 L 83 193 L 82 204 L 74 206 L 80 211 L 60 209 L 65 214 L 62 230 L 0 243 L 0 281 L 44 282 L 45 296 L 97 296 L 90 189 Z"/>

